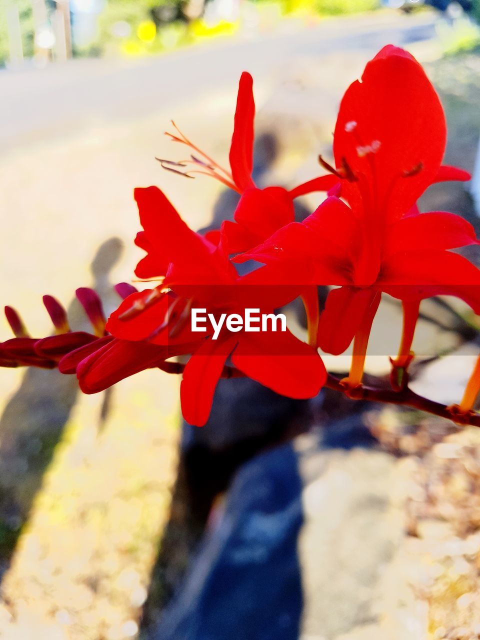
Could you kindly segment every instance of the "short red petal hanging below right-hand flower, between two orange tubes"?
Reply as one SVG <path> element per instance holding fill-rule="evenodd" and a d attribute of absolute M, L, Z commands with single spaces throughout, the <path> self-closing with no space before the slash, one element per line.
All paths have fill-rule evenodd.
<path fill-rule="evenodd" d="M 346 351 L 376 293 L 353 287 L 330 291 L 318 326 L 319 348 L 333 355 Z"/>

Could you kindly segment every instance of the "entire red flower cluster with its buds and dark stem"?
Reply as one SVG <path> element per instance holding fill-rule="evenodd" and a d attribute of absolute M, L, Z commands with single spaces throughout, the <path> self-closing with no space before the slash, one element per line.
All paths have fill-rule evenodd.
<path fill-rule="evenodd" d="M 0 365 L 58 367 L 76 373 L 85 393 L 95 393 L 150 367 L 182 374 L 184 418 L 205 424 L 221 377 L 248 376 L 279 394 L 315 396 L 323 385 L 350 397 L 418 406 L 457 422 L 480 424 L 472 411 L 480 388 L 480 364 L 460 404 L 445 407 L 408 388 L 408 366 L 420 301 L 456 296 L 480 314 L 480 270 L 451 250 L 478 244 L 474 228 L 447 212 L 420 213 L 417 200 L 434 182 L 468 180 L 467 172 L 442 165 L 445 116 L 419 63 L 388 45 L 349 86 L 333 134 L 333 163 L 326 172 L 287 190 L 260 189 L 252 178 L 255 103 L 252 77 L 239 83 L 228 168 L 214 162 L 175 127 L 168 134 L 189 148 L 189 158 L 159 159 L 175 173 L 210 175 L 240 195 L 234 221 L 202 235 L 180 218 L 164 193 L 138 188 L 134 197 L 142 230 L 136 244 L 146 252 L 135 274 L 154 282 L 137 291 L 117 285 L 124 298 L 105 321 L 91 289 L 77 297 L 93 332 L 72 332 L 61 305 L 45 296 L 55 335 L 29 337 L 20 317 L 6 307 L 15 338 L 0 344 Z M 323 202 L 303 222 L 294 221 L 294 200 L 321 192 Z M 245 273 L 237 264 L 255 261 Z M 252 264 L 252 263 L 249 263 Z M 239 275 L 243 273 L 243 275 Z M 319 285 L 332 287 L 319 312 Z M 392 359 L 390 390 L 362 385 L 372 321 L 382 294 L 401 300 L 403 336 Z M 273 323 L 247 331 L 224 325 L 193 330 L 192 309 L 208 317 L 244 316 L 247 309 L 275 314 L 301 298 L 308 343 Z M 348 377 L 337 380 L 318 349 L 338 355 L 353 342 Z"/>

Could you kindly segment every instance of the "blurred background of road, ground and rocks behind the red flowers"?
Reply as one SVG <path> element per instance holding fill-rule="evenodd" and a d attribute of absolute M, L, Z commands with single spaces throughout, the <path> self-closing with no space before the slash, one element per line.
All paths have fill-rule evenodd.
<path fill-rule="evenodd" d="M 242 70 L 262 186 L 320 173 L 342 93 L 388 43 L 425 65 L 446 160 L 474 171 L 479 19 L 478 0 L 1 0 L 2 304 L 38 337 L 51 332 L 45 293 L 74 328 L 76 287 L 113 310 L 112 284 L 141 256 L 135 186 L 161 187 L 194 228 L 231 218 L 234 195 L 155 157 L 181 156 L 163 134 L 174 118 L 223 161 Z M 478 230 L 479 183 L 477 168 L 466 187 L 436 185 L 421 208 Z M 317 204 L 303 198 L 298 218 Z M 298 310 L 291 323 L 303 330 Z M 393 301 L 378 327 L 377 384 L 401 330 Z M 424 303 L 412 387 L 458 401 L 477 336 L 465 308 Z M 348 358 L 327 364 L 341 373 Z M 180 420 L 178 385 L 145 371 L 90 397 L 56 371 L 0 369 L 1 638 L 480 637 L 476 429 L 240 379 L 221 382 L 197 429 Z"/>

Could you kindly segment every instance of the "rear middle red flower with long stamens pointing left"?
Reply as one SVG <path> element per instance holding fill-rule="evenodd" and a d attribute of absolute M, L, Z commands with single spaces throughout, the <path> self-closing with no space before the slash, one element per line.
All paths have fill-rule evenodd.
<path fill-rule="evenodd" d="M 227 220 L 221 225 L 222 242 L 227 253 L 246 251 L 267 239 L 278 228 L 292 222 L 294 198 L 313 191 L 328 191 L 338 182 L 338 178 L 334 175 L 324 175 L 300 184 L 290 191 L 278 186 L 260 189 L 255 185 L 252 179 L 253 120 L 255 118 L 252 86 L 252 76 L 243 72 L 239 82 L 234 132 L 230 145 L 230 171 L 195 147 L 179 129 L 177 134 L 168 135 L 173 141 L 187 145 L 205 160 L 200 160 L 193 155 L 189 160 L 179 163 L 161 160 L 165 169 L 189 177 L 193 177 L 192 173 L 211 175 L 241 195 L 234 214 L 235 222 Z M 188 170 L 192 163 L 195 168 Z M 148 250 L 148 246 L 142 248 Z"/>

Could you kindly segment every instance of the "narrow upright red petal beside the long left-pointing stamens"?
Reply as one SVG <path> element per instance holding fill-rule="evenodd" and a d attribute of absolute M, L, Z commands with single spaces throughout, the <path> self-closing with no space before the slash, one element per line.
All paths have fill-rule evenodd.
<path fill-rule="evenodd" d="M 230 168 L 234 182 L 240 191 L 255 186 L 252 180 L 254 118 L 253 79 L 244 71 L 238 86 L 234 132 L 230 145 Z"/>

